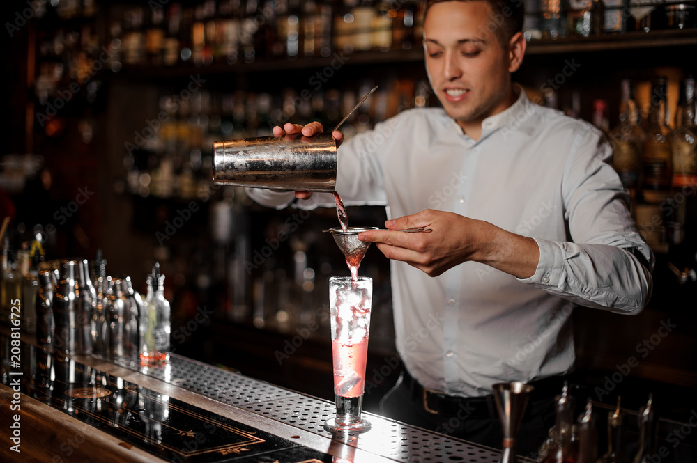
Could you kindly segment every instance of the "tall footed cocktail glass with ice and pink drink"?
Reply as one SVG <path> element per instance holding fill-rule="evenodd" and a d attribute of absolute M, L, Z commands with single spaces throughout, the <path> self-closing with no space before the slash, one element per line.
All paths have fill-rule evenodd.
<path fill-rule="evenodd" d="M 334 395 L 337 414 L 324 423 L 332 431 L 363 432 L 370 423 L 360 417 L 365 387 L 365 363 L 368 353 L 371 278 L 332 276 L 329 279 L 329 306 L 334 358 Z"/>

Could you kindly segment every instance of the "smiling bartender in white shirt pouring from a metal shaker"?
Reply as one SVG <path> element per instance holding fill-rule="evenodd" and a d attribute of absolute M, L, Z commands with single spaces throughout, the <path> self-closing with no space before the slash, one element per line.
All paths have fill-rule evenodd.
<path fill-rule="evenodd" d="M 529 455 L 574 366 L 572 308 L 640 312 L 654 256 L 602 133 L 512 84 L 522 25 L 521 0 L 429 1 L 425 63 L 442 108 L 404 111 L 343 143 L 336 190 L 346 205 L 385 205 L 386 228 L 433 230 L 359 236 L 391 264 L 405 370 L 381 401 L 385 415 L 500 446 L 491 386 L 530 383 L 519 433 Z M 274 134 L 321 130 L 286 124 Z M 294 200 L 250 195 L 275 207 Z M 295 196 L 299 207 L 335 205 L 329 194 Z"/>

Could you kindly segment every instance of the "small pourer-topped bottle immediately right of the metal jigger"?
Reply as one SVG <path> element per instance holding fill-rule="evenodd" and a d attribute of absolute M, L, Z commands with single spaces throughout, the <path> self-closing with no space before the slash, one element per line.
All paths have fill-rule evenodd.
<path fill-rule="evenodd" d="M 564 383 L 561 395 L 556 402 L 556 418 L 549 436 L 537 452 L 537 462 L 568 463 L 572 462 L 572 425 L 574 424 L 574 398 L 569 395 L 569 385 Z"/>

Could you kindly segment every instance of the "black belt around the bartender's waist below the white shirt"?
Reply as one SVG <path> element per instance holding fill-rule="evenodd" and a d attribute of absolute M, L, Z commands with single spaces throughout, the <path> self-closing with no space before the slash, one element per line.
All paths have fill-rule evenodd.
<path fill-rule="evenodd" d="M 534 386 L 530 394 L 530 402 L 547 400 L 559 395 L 562 391 L 564 378 L 553 376 L 539 381 L 530 382 Z M 441 391 L 435 391 L 422 386 L 407 370 L 402 372 L 402 383 L 411 392 L 411 398 L 420 402 L 425 411 L 434 415 L 456 416 L 463 415 L 472 418 L 498 418 L 496 402 L 493 394 L 481 397 L 459 397 L 447 395 Z M 528 407 L 528 410 L 530 407 Z M 527 413 L 527 412 L 526 412 Z"/>

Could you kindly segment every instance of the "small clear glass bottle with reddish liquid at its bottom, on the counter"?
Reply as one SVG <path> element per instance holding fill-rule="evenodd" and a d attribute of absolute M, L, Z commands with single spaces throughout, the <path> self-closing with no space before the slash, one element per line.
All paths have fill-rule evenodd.
<path fill-rule="evenodd" d="M 164 298 L 164 275 L 155 263 L 148 276 L 148 294 L 141 315 L 141 365 L 153 365 L 167 360 L 171 311 Z"/>

